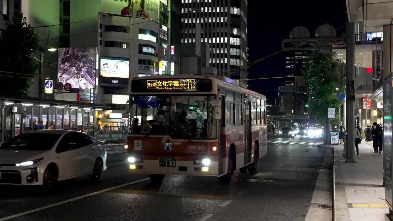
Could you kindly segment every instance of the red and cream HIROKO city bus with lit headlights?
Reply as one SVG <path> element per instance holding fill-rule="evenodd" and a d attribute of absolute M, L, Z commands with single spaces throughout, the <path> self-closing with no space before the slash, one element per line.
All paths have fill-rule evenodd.
<path fill-rule="evenodd" d="M 130 79 L 131 132 L 125 149 L 131 173 L 217 177 L 255 173 L 266 155 L 266 97 L 220 76 Z"/>

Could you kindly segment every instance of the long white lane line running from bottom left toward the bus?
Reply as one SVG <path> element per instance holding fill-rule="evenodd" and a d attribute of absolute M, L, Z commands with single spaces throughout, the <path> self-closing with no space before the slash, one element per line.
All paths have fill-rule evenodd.
<path fill-rule="evenodd" d="M 46 206 L 41 206 L 39 208 L 35 208 L 35 209 L 32 209 L 32 210 L 27 210 L 25 212 L 21 212 L 21 213 L 18 213 L 18 214 L 9 215 L 7 217 L 0 218 L 0 221 L 14 219 L 14 218 L 20 217 L 22 215 L 28 215 L 28 214 L 31 214 L 31 213 L 34 213 L 34 212 L 38 212 L 38 211 L 41 211 L 41 210 L 46 210 L 46 209 L 49 209 L 49 208 L 52 208 L 52 207 L 55 207 L 55 206 L 60 206 L 62 204 L 70 203 L 70 202 L 73 202 L 73 201 L 76 201 L 76 200 L 79 200 L 79 199 L 83 199 L 83 198 L 86 198 L 86 197 L 91 197 L 91 196 L 94 196 L 94 195 L 97 195 L 97 194 L 100 194 L 100 193 L 108 192 L 110 190 L 115 190 L 115 189 L 121 188 L 123 186 L 129 186 L 129 185 L 136 184 L 138 182 L 143 182 L 143 181 L 146 181 L 146 180 L 149 180 L 149 179 L 150 178 L 145 178 L 145 179 L 136 180 L 136 181 L 133 181 L 133 182 L 128 182 L 128 183 L 125 183 L 125 184 L 121 184 L 121 185 L 118 185 L 118 186 L 114 186 L 114 187 L 111 187 L 111 188 L 100 190 L 100 191 L 97 191 L 97 192 L 94 192 L 94 193 L 88 193 L 88 194 L 85 194 L 85 195 L 81 195 L 79 197 L 74 197 L 72 199 L 67 199 L 67 200 L 64 200 L 64 201 L 60 201 L 58 203 L 53 203 L 53 204 L 49 204 L 49 205 L 46 205 Z"/>

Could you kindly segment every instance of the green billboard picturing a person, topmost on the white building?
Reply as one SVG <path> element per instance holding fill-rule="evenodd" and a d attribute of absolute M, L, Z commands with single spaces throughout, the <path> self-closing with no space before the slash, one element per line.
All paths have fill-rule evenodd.
<path fill-rule="evenodd" d="M 160 0 L 101 0 L 102 12 L 148 18 L 158 22 Z"/>

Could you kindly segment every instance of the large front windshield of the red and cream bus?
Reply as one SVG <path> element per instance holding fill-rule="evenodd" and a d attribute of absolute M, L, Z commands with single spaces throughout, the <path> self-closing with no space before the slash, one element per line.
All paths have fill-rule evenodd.
<path fill-rule="evenodd" d="M 134 96 L 132 134 L 169 135 L 173 139 L 215 139 L 215 96 Z"/>

